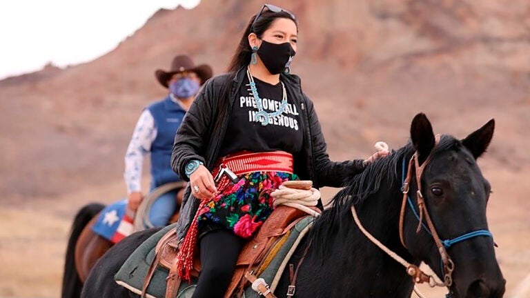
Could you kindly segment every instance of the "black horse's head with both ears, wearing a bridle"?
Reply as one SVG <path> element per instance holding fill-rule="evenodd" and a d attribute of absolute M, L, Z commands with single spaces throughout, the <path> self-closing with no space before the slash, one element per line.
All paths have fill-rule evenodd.
<path fill-rule="evenodd" d="M 424 114 L 411 123 L 415 155 L 409 162 L 414 165 L 403 200 L 401 239 L 413 257 L 445 281 L 451 297 L 504 294 L 506 281 L 486 218 L 491 187 L 476 163 L 494 128 L 491 119 L 465 139 L 443 135 L 438 141 Z"/>

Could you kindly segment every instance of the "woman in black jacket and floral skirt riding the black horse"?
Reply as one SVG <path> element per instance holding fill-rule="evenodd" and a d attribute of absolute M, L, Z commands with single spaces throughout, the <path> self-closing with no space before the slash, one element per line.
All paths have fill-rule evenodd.
<path fill-rule="evenodd" d="M 290 72 L 297 34 L 294 14 L 262 6 L 248 21 L 228 74 L 205 84 L 175 137 L 173 170 L 190 181 L 177 233 L 184 237 L 190 229 L 177 266 L 189 279 L 193 257 L 185 256 L 198 244 L 202 272 L 195 298 L 224 295 L 246 239 L 273 210 L 268 190 L 299 178 L 316 188 L 341 187 L 384 155 L 329 159 L 313 102 Z"/>

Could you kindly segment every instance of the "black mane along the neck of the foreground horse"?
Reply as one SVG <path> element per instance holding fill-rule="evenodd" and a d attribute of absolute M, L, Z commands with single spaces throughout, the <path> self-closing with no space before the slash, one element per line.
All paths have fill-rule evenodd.
<path fill-rule="evenodd" d="M 462 143 L 450 135 L 442 135 L 440 142 L 435 146 L 433 156 L 446 150 L 458 150 Z M 313 251 L 324 256 L 328 251 L 329 235 L 337 232 L 337 224 L 344 218 L 345 213 L 351 217 L 351 206 L 360 206 L 371 195 L 380 190 L 382 182 L 393 185 L 402 183 L 401 168 L 403 159 L 408 165 L 415 149 L 411 141 L 398 150 L 392 150 L 386 157 L 370 163 L 363 172 L 350 177 L 346 186 L 331 200 L 331 207 L 324 210 L 322 215 L 315 220 L 315 224 L 308 234 Z M 333 223 L 333 224 L 331 224 Z"/>

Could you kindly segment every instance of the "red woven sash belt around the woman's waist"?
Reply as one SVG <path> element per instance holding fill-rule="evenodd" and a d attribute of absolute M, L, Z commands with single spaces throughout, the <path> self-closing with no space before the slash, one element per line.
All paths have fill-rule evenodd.
<path fill-rule="evenodd" d="M 241 152 L 219 159 L 213 170 L 215 182 L 228 175 L 232 181 L 249 172 L 288 172 L 293 174 L 293 155 L 284 151 Z"/>

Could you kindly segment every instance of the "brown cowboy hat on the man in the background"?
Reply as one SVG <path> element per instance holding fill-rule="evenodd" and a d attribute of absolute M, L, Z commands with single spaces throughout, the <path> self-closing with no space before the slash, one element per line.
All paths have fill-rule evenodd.
<path fill-rule="evenodd" d="M 155 71 L 155 77 L 162 86 L 168 88 L 168 81 L 177 72 L 195 72 L 201 78 L 201 84 L 212 77 L 212 68 L 207 64 L 195 66 L 193 60 L 188 55 L 179 55 L 173 58 L 171 62 L 171 69 L 166 72 L 164 70 Z"/>

